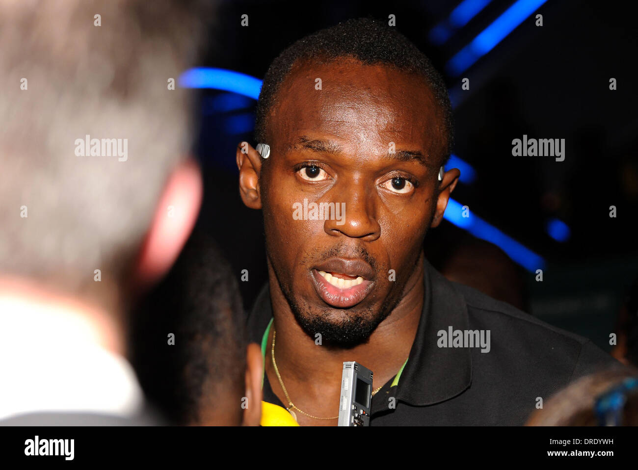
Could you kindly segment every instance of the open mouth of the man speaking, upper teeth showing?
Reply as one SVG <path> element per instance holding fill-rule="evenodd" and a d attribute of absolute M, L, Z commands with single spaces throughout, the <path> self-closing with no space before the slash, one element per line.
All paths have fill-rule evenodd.
<path fill-rule="evenodd" d="M 312 274 L 323 302 L 345 309 L 367 297 L 375 285 L 376 272 L 365 261 L 333 259 L 313 268 Z"/>

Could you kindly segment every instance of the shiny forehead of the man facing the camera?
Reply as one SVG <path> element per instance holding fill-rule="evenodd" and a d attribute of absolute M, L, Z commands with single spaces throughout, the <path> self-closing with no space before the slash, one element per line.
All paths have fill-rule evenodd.
<path fill-rule="evenodd" d="M 439 108 L 424 77 L 349 58 L 296 63 L 279 88 L 269 127 L 279 148 L 313 133 L 358 148 L 387 151 L 394 142 L 429 154 L 441 139 Z"/>

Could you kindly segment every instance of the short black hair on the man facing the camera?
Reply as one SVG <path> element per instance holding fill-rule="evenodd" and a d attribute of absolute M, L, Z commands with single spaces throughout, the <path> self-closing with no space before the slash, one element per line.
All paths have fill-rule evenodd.
<path fill-rule="evenodd" d="M 257 102 L 257 142 L 266 141 L 269 114 L 277 101 L 279 87 L 293 64 L 306 59 L 331 61 L 338 57 L 354 57 L 364 64 L 388 64 L 426 78 L 443 114 L 443 133 L 447 138 L 447 148 L 443 149 L 442 163 L 447 161 L 454 143 L 454 124 L 452 105 L 443 78 L 426 55 L 408 38 L 398 33 L 394 27 L 387 26 L 385 22 L 371 18 L 351 19 L 317 31 L 293 43 L 272 61 L 263 77 L 262 90 Z"/>

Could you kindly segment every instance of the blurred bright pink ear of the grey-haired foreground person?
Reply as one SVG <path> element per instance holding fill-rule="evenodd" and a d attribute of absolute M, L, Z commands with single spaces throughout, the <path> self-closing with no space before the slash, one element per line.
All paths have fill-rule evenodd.
<path fill-rule="evenodd" d="M 151 286 L 168 272 L 195 226 L 202 204 L 202 173 L 194 159 L 168 177 L 135 267 L 135 282 Z"/>

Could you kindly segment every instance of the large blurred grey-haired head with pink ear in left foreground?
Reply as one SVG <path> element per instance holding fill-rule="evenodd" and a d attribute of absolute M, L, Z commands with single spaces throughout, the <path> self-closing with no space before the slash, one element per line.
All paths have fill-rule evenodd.
<path fill-rule="evenodd" d="M 117 309 L 125 286 L 170 267 L 201 197 L 189 99 L 171 80 L 195 60 L 203 13 L 0 3 L 0 277 Z"/>

